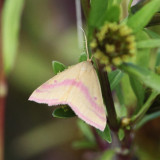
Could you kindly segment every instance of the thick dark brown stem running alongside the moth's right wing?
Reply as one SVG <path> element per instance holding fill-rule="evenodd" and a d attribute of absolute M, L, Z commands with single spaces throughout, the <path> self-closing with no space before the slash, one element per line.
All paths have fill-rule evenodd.
<path fill-rule="evenodd" d="M 102 96 L 104 99 L 104 103 L 106 105 L 107 113 L 108 113 L 108 122 L 109 126 L 112 130 L 118 131 L 119 123 L 117 119 L 117 114 L 113 102 L 112 92 L 110 88 L 110 83 L 108 80 L 107 72 L 103 71 L 103 67 L 98 64 L 99 78 L 102 88 Z"/>

